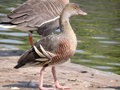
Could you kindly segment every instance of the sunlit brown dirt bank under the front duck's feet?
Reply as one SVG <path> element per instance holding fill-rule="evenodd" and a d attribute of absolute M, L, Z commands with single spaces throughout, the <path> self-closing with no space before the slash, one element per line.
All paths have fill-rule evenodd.
<path fill-rule="evenodd" d="M 18 49 L 0 50 L 0 90 L 39 90 L 41 67 L 14 69 L 17 60 L 24 51 Z M 61 85 L 71 87 L 70 90 L 120 90 L 120 76 L 81 65 L 66 62 L 56 66 L 57 77 Z M 35 86 L 30 86 L 35 83 Z M 51 67 L 44 73 L 44 86 L 54 84 Z M 54 90 L 56 89 L 54 87 Z"/>

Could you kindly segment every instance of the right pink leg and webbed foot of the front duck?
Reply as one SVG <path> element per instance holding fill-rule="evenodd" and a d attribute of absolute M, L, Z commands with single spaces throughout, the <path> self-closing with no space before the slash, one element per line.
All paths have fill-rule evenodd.
<path fill-rule="evenodd" d="M 58 82 L 57 77 L 56 77 L 56 71 L 55 71 L 54 66 L 52 67 L 52 74 L 53 74 L 54 81 L 55 81 L 55 84 L 53 86 L 55 86 L 56 88 L 59 88 L 59 89 L 71 89 L 71 88 L 69 88 L 67 86 L 60 86 L 59 85 L 59 82 Z"/>

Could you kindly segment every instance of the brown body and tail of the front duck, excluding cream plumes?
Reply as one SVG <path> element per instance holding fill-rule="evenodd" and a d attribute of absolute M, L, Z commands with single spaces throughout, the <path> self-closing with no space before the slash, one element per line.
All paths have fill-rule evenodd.
<path fill-rule="evenodd" d="M 76 48 L 76 40 L 74 43 L 74 48 Z M 46 51 L 53 53 L 55 56 L 49 58 L 48 56 L 42 57 L 38 55 L 34 49 L 34 46 L 36 46 L 37 49 L 43 54 L 40 45 L 43 46 Z M 25 64 L 30 64 L 32 66 L 49 66 L 61 64 L 63 62 L 66 62 L 75 53 L 75 51 L 73 51 L 71 48 L 69 40 L 62 36 L 62 34 L 44 37 L 42 40 L 36 42 L 34 46 L 21 56 L 18 61 L 18 65 L 15 67 L 16 69 L 24 66 Z M 47 61 L 50 62 L 46 63 L 44 60 L 36 60 L 39 58 L 48 59 Z"/>

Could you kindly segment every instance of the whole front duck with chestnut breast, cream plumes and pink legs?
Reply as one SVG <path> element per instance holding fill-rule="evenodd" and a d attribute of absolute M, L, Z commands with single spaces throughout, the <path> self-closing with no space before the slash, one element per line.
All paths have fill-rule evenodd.
<path fill-rule="evenodd" d="M 60 30 L 59 35 L 49 35 L 43 37 L 36 42 L 31 49 L 26 51 L 19 59 L 16 69 L 22 66 L 42 66 L 40 72 L 39 89 L 53 90 L 43 88 L 43 73 L 47 66 L 52 65 L 52 73 L 55 81 L 55 86 L 60 89 L 69 89 L 68 87 L 60 86 L 56 78 L 55 65 L 62 64 L 69 60 L 75 53 L 77 46 L 77 39 L 72 27 L 69 23 L 69 17 L 72 15 L 87 15 L 81 11 L 79 6 L 69 3 L 65 6 L 60 16 Z"/>

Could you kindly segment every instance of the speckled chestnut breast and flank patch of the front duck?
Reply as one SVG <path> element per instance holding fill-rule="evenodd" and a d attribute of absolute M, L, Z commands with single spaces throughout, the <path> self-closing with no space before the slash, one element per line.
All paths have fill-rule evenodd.
<path fill-rule="evenodd" d="M 69 40 L 63 38 L 59 42 L 59 47 L 55 51 L 56 56 L 52 58 L 50 65 L 61 64 L 69 60 L 75 53 L 75 50 L 71 49 Z"/>

